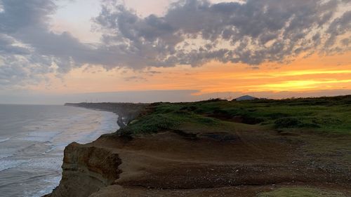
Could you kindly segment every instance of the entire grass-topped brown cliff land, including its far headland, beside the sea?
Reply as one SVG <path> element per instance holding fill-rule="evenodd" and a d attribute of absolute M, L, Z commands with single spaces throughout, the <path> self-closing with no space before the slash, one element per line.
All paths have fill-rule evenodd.
<path fill-rule="evenodd" d="M 129 113 L 123 104 L 74 106 Z M 338 107 L 350 107 L 350 97 L 134 106 L 117 133 L 66 147 L 62 180 L 48 196 L 351 196 L 351 135 L 304 122 L 316 109 L 328 120 L 350 116 L 330 113 Z M 242 121 L 250 118 L 260 121 Z M 289 124 L 277 130 L 277 120 Z"/>

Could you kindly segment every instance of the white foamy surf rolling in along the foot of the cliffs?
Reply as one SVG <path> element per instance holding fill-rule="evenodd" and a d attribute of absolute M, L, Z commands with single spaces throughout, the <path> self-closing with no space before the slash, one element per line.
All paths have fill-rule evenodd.
<path fill-rule="evenodd" d="M 12 145 L 6 142 L 10 139 L 5 139 L 5 136 L 0 138 L 0 142 L 6 142 L 0 147 L 0 171 L 14 168 L 12 170 L 45 176 L 24 182 L 23 191 L 20 191 L 25 196 L 43 196 L 58 186 L 63 149 L 68 144 L 86 144 L 100 135 L 114 133 L 118 128 L 117 115 L 112 112 L 81 111 L 30 121 L 23 126 L 24 132 L 11 136 Z"/>

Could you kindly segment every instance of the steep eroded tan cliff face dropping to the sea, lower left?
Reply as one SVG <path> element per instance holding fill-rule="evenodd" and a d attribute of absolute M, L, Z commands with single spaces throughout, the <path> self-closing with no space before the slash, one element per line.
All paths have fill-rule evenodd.
<path fill-rule="evenodd" d="M 121 159 L 110 149 L 69 144 L 65 149 L 60 185 L 48 196 L 83 197 L 119 178 Z"/>

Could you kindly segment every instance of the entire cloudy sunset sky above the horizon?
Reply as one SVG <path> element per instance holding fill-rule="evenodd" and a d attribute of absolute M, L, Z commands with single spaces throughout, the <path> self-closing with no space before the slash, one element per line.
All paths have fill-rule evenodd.
<path fill-rule="evenodd" d="M 350 0 L 0 0 L 0 103 L 347 94 Z"/>

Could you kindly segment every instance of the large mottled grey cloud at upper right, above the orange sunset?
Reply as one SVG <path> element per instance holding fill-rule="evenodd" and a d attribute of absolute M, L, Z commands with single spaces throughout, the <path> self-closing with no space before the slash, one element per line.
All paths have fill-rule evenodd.
<path fill-rule="evenodd" d="M 135 64 L 126 62 L 131 67 L 286 62 L 301 53 L 340 48 L 336 39 L 350 32 L 349 12 L 336 18 L 347 1 L 185 0 L 172 4 L 164 16 L 146 18 L 108 2 L 95 22 L 105 31 L 107 46 L 135 57 Z"/>

